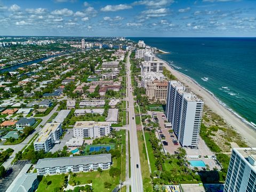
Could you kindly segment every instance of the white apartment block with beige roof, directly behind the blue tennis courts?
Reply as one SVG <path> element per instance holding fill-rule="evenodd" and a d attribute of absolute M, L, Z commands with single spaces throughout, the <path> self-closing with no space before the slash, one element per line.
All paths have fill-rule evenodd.
<path fill-rule="evenodd" d="M 100 138 L 110 133 L 110 122 L 78 121 L 73 127 L 74 137 Z"/>

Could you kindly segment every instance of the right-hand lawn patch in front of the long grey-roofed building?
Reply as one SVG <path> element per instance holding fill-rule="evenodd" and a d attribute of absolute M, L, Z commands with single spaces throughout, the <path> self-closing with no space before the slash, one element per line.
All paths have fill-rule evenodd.
<path fill-rule="evenodd" d="M 70 185 L 73 185 L 74 180 L 76 182 L 80 181 L 81 185 L 87 184 L 88 180 L 92 180 L 93 191 L 100 191 L 100 192 L 111 191 L 119 183 L 119 181 L 116 178 L 112 178 L 112 177 L 109 176 L 109 171 L 108 170 L 103 171 L 101 174 L 98 171 L 86 172 L 86 173 L 80 172 L 80 173 L 77 173 L 77 176 L 75 178 L 70 177 L 70 180 L 69 180 L 68 183 Z M 109 183 L 112 184 L 111 190 L 106 189 L 104 187 L 104 182 L 109 182 Z"/>

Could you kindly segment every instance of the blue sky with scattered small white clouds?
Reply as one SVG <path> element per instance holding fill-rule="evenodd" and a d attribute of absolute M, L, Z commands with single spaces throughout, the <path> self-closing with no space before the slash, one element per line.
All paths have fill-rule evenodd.
<path fill-rule="evenodd" d="M 256 36 L 256 0 L 0 0 L 0 35 Z"/>

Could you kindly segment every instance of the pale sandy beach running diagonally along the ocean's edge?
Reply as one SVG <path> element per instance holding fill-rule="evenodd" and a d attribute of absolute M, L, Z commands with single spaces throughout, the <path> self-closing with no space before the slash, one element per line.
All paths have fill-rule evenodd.
<path fill-rule="evenodd" d="M 158 58 L 159 59 L 159 58 Z M 159 59 L 161 60 L 161 59 Z M 256 131 L 253 128 L 246 125 L 237 116 L 231 113 L 228 109 L 220 105 L 217 99 L 213 97 L 209 92 L 203 89 L 202 86 L 198 85 L 190 77 L 183 75 L 177 70 L 174 70 L 164 60 L 164 66 L 171 71 L 171 73 L 179 79 L 184 85 L 190 87 L 191 91 L 201 96 L 204 100 L 205 105 L 210 107 L 215 113 L 220 115 L 225 121 L 230 124 L 234 129 L 244 138 L 250 147 L 256 147 Z"/>

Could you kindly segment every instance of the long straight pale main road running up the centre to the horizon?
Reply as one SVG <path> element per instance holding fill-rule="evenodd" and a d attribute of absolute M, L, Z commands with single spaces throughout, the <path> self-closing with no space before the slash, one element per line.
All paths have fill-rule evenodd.
<path fill-rule="evenodd" d="M 127 101 L 129 102 L 129 125 L 127 126 L 130 130 L 130 150 L 131 150 L 131 187 L 134 192 L 143 191 L 143 183 L 140 169 L 140 153 L 138 147 L 138 138 L 137 138 L 137 127 L 135 123 L 135 112 L 134 112 L 134 99 L 132 94 L 132 80 L 131 80 L 131 63 L 130 63 L 130 54 L 129 51 L 126 59 L 126 68 L 127 68 Z"/>

